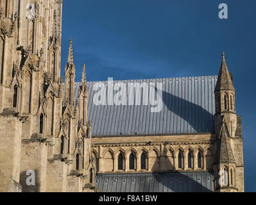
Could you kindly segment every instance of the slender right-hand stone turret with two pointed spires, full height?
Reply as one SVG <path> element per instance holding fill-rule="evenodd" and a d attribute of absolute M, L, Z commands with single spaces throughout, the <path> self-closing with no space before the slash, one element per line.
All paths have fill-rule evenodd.
<path fill-rule="evenodd" d="M 235 88 L 225 54 L 215 88 L 216 157 L 214 172 L 217 192 L 244 192 L 243 138 L 241 116 L 235 110 Z"/>

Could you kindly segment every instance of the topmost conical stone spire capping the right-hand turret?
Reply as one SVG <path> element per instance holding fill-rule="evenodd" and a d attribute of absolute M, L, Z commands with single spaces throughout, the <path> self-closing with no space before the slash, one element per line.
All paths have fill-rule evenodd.
<path fill-rule="evenodd" d="M 231 74 L 226 65 L 225 53 L 222 53 L 221 69 L 219 70 L 219 77 L 215 88 L 215 91 L 219 90 L 235 90 Z"/>

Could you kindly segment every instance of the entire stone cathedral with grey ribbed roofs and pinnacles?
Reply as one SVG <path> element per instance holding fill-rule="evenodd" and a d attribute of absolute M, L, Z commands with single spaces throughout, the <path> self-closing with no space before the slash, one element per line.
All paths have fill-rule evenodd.
<path fill-rule="evenodd" d="M 218 76 L 78 83 L 61 42 L 62 0 L 0 0 L 0 192 L 244 192 L 224 53 Z"/>

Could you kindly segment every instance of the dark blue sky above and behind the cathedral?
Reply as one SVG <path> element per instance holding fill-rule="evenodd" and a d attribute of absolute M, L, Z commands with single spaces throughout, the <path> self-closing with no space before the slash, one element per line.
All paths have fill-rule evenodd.
<path fill-rule="evenodd" d="M 218 5 L 228 4 L 228 18 Z M 62 70 L 73 38 L 80 81 L 217 75 L 225 51 L 243 117 L 246 191 L 256 191 L 256 1 L 64 1 Z"/>

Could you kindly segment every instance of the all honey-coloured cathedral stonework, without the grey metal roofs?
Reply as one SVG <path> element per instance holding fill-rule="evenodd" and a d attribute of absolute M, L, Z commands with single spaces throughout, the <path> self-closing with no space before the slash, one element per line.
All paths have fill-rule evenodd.
<path fill-rule="evenodd" d="M 0 192 L 94 192 L 96 173 L 161 172 L 210 172 L 216 192 L 244 192 L 241 117 L 224 54 L 215 132 L 92 137 L 85 65 L 75 94 L 72 40 L 60 78 L 61 32 L 62 1 L 0 1 Z"/>

